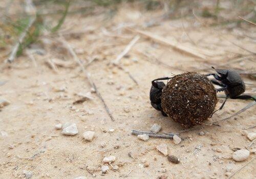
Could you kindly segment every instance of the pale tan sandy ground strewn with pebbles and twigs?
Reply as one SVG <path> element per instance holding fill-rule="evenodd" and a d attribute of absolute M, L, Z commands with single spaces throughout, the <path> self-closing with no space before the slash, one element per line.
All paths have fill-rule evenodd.
<path fill-rule="evenodd" d="M 50 57 L 39 55 L 35 55 L 37 67 L 26 56 L 11 65 L 1 64 L 0 81 L 7 82 L 0 86 L 0 99 L 8 100 L 10 105 L 0 111 L 0 178 L 24 178 L 24 170 L 32 171 L 32 178 L 92 178 L 95 175 L 96 178 L 227 178 L 227 168 L 231 168 L 231 172 L 236 171 L 255 156 L 251 153 L 244 162 L 231 159 L 233 148 L 245 148 L 251 143 L 243 134 L 256 131 L 255 128 L 245 129 L 255 125 L 255 106 L 236 118 L 222 122 L 221 127 L 202 126 L 181 133 L 183 140 L 178 145 L 168 139 L 150 138 L 144 142 L 131 135 L 131 129 L 150 130 L 154 123 L 161 125 L 161 132 L 165 133 L 183 129 L 151 107 L 151 80 L 196 69 L 208 69 L 199 71 L 202 73 L 213 72 L 211 65 L 220 65 L 239 56 L 250 59 L 228 63 L 226 68 L 255 70 L 255 57 L 228 41 L 243 44 L 244 48 L 255 52 L 255 41 L 243 36 L 255 33 L 251 26 L 247 29 L 213 29 L 204 27 L 195 18 L 167 19 L 153 27 L 140 26 L 141 21 L 154 19 L 158 15 L 158 12 L 123 8 L 110 23 L 101 25 L 97 24 L 97 19 L 102 19 L 101 15 L 66 19 L 65 27 L 73 25 L 72 30 L 89 29 L 79 38 L 67 37 L 67 40 L 79 58 L 97 58 L 87 67 L 87 71 L 91 73 L 115 121 L 110 119 L 95 93 L 92 93 L 93 100 L 72 104 L 79 99 L 76 93 L 91 91 L 90 83 L 79 66 L 58 68 L 58 73 L 54 73 L 45 64 L 45 59 Z M 133 29 L 143 29 L 165 39 L 176 39 L 178 44 L 207 50 L 207 61 L 141 35 L 128 56 L 120 60 L 123 69 L 138 82 L 136 84 L 129 74 L 110 64 L 138 34 L 124 28 L 115 30 L 120 23 L 133 23 Z M 109 33 L 103 33 L 103 27 Z M 224 38 L 220 37 L 220 33 Z M 61 56 L 58 47 L 55 48 L 51 58 Z M 206 54 L 205 51 L 203 54 Z M 70 55 L 68 58 L 73 60 Z M 154 61 L 155 58 L 172 68 L 159 64 Z M 255 81 L 244 79 L 247 92 L 252 92 Z M 62 88 L 65 90 L 57 92 Z M 219 100 L 217 107 L 222 101 Z M 252 101 L 228 100 L 223 110 L 210 121 L 223 119 L 249 102 Z M 61 130 L 54 128 L 55 124 L 65 122 L 76 123 L 79 133 L 64 136 Z M 115 131 L 110 132 L 109 129 Z M 87 130 L 95 131 L 92 142 L 82 138 L 82 133 Z M 200 131 L 204 131 L 205 135 L 199 136 Z M 106 143 L 103 148 L 102 142 Z M 168 162 L 166 156 L 156 150 L 160 144 L 166 144 L 168 154 L 178 156 L 180 164 Z M 248 149 L 255 149 L 255 144 Z M 109 155 L 116 156 L 112 165 L 118 165 L 119 169 L 114 171 L 110 166 L 108 173 L 100 175 L 102 159 Z M 148 167 L 143 167 L 144 159 Z M 256 160 L 233 178 L 255 178 L 255 164 Z"/>

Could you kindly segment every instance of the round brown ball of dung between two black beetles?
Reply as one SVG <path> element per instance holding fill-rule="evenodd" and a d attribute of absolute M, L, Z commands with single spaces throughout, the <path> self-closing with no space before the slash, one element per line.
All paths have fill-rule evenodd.
<path fill-rule="evenodd" d="M 196 72 L 183 73 L 170 79 L 161 96 L 164 113 L 187 128 L 209 118 L 217 102 L 214 85 L 206 75 Z"/>

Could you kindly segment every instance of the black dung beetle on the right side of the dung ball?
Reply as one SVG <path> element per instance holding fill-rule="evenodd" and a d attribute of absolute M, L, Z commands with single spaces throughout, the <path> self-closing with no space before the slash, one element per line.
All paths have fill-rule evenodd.
<path fill-rule="evenodd" d="M 221 88 L 216 89 L 216 92 L 224 91 L 226 94 L 226 98 L 218 110 L 221 110 L 223 108 L 228 98 L 253 99 L 254 101 L 256 101 L 256 99 L 250 95 L 241 95 L 245 92 L 245 84 L 237 71 L 230 70 L 230 69 L 215 69 L 213 66 L 211 66 L 211 68 L 214 69 L 217 72 L 217 74 L 210 73 L 210 74 L 206 74 L 206 76 L 210 76 L 210 75 L 214 76 L 216 80 L 211 80 L 211 82 L 218 86 L 221 86 Z M 214 113 L 216 111 L 214 111 Z M 212 113 L 212 115 L 214 113 Z"/>

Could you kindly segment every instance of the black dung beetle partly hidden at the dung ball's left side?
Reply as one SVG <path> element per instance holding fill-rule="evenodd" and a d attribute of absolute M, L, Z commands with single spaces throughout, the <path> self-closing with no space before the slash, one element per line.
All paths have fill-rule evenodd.
<path fill-rule="evenodd" d="M 158 80 L 168 80 L 171 79 L 169 77 L 163 77 L 163 78 L 157 78 L 154 79 L 151 83 L 151 89 L 150 89 L 150 101 L 151 101 L 151 105 L 152 107 L 154 107 L 157 110 L 160 110 L 162 112 L 163 116 L 167 116 L 164 111 L 163 108 L 161 106 L 161 95 L 162 95 L 162 89 L 164 88 L 165 84 L 162 81 L 158 81 Z"/>

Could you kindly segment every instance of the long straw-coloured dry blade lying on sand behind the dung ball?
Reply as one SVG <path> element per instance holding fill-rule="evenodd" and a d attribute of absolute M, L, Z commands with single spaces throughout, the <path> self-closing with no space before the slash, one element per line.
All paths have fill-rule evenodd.
<path fill-rule="evenodd" d="M 176 41 L 167 40 L 166 38 L 158 36 L 158 35 L 153 34 L 151 32 L 146 32 L 146 31 L 141 31 L 141 30 L 134 30 L 134 29 L 127 29 L 127 30 L 130 30 L 130 31 L 133 31 L 133 32 L 137 32 L 137 33 L 139 33 L 141 35 L 144 35 L 146 37 L 150 37 L 153 40 L 156 40 L 156 41 L 158 41 L 160 43 L 163 43 L 165 45 L 171 46 L 172 48 L 174 48 L 174 49 L 176 49 L 178 51 L 184 52 L 186 54 L 190 54 L 190 55 L 193 55 L 193 56 L 198 57 L 198 58 L 206 59 L 205 55 L 203 55 L 203 54 L 201 54 L 199 52 L 196 52 L 194 49 L 191 49 L 189 47 L 183 46 L 182 44 L 178 44 Z"/>

